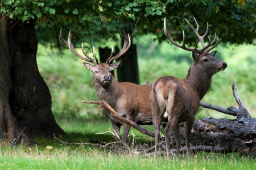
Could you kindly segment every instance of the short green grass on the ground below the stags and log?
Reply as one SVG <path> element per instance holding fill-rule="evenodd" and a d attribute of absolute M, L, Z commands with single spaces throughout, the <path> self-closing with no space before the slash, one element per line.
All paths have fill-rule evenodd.
<path fill-rule="evenodd" d="M 59 138 L 67 142 L 92 143 L 90 139 L 113 140 L 110 134 L 95 135 L 96 132 L 108 131 L 111 123 L 108 120 L 66 121 L 57 119 L 59 125 L 69 135 Z M 151 142 L 137 133 L 135 138 Z M 181 154 L 179 159 L 165 156 L 141 156 L 133 150 L 132 154 L 117 155 L 98 147 L 80 144 L 61 143 L 53 138 L 36 138 L 33 147 L 16 146 L 0 147 L 0 169 L 255 169 L 256 161 L 251 157 L 237 153 L 214 154 L 199 152 L 189 159 Z"/>

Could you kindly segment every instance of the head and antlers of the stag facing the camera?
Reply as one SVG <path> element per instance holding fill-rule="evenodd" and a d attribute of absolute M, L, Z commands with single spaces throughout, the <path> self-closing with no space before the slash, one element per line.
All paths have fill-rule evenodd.
<path fill-rule="evenodd" d="M 76 49 L 73 47 L 72 43 L 71 43 L 71 31 L 69 31 L 68 34 L 68 41 L 65 41 L 63 39 L 62 33 L 61 33 L 61 29 L 60 29 L 60 42 L 67 45 L 67 47 L 80 59 L 88 61 L 89 63 L 93 63 L 94 65 L 91 65 L 89 63 L 85 63 L 84 62 L 84 66 L 86 69 L 88 69 L 89 71 L 93 72 L 93 77 L 94 80 L 93 81 L 97 81 L 99 84 L 101 84 L 102 86 L 106 86 L 109 84 L 109 82 L 111 81 L 112 78 L 112 74 L 111 72 L 114 69 L 117 69 L 118 65 L 120 64 L 121 61 L 117 61 L 114 64 L 110 64 L 113 60 L 118 59 L 119 57 L 121 57 L 123 55 L 123 53 L 125 53 L 130 45 L 131 45 L 131 40 L 130 40 L 130 36 L 125 34 L 125 31 L 123 31 L 124 35 L 125 35 L 125 40 L 123 43 L 123 48 L 121 49 L 121 51 L 116 55 L 113 56 L 113 47 L 112 47 L 112 52 L 108 58 L 108 60 L 106 61 L 106 63 L 98 63 L 98 59 L 96 57 L 95 51 L 94 51 L 94 47 L 93 47 L 93 56 L 95 58 L 95 60 L 90 57 L 89 55 L 87 55 L 84 52 L 84 45 L 82 43 L 82 53 L 84 53 L 85 57 L 79 55 L 79 53 L 76 51 Z"/>

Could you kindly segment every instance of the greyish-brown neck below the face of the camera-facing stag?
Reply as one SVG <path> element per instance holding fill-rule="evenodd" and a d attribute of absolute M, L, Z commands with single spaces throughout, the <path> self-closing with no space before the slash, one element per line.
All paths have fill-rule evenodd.
<path fill-rule="evenodd" d="M 108 85 L 105 86 L 102 86 L 101 82 L 99 82 L 96 77 L 93 77 L 93 86 L 99 101 L 104 100 L 113 107 L 118 98 L 118 94 L 122 93 L 119 82 L 115 80 L 113 75 L 111 76 Z"/>

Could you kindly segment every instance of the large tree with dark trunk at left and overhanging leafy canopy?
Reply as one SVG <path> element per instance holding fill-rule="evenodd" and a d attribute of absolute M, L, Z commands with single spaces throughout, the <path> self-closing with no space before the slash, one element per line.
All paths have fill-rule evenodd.
<path fill-rule="evenodd" d="M 184 18 L 208 22 L 223 43 L 255 43 L 256 2 L 250 1 L 1 1 L 0 138 L 9 143 L 32 144 L 33 135 L 65 134 L 51 112 L 49 89 L 38 72 L 37 44 L 59 47 L 60 27 L 72 30 L 74 44 L 92 46 L 117 41 L 116 35 L 130 23 L 134 37 L 152 33 L 159 41 L 163 17 L 175 40 L 182 40 Z M 210 31 L 209 35 L 214 32 Z M 67 33 L 66 33 L 67 34 Z M 193 34 L 186 42 L 195 43 Z M 118 43 L 114 43 L 117 45 Z M 80 45 L 79 45 L 80 46 Z M 22 132 L 22 133 L 21 133 Z"/>

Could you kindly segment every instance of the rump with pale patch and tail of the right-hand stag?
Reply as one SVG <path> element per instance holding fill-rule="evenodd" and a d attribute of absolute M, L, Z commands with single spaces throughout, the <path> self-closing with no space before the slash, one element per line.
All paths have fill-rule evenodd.
<path fill-rule="evenodd" d="M 152 84 L 150 102 L 152 106 L 158 105 L 152 109 L 158 109 L 155 113 L 159 113 L 158 117 L 161 121 L 168 122 L 175 118 L 179 120 L 177 123 L 186 122 L 188 117 L 191 118 L 191 113 L 196 113 L 199 109 L 199 95 L 197 93 L 192 95 L 191 89 L 189 93 L 183 83 L 185 83 L 183 80 L 176 77 L 164 76 Z"/>

